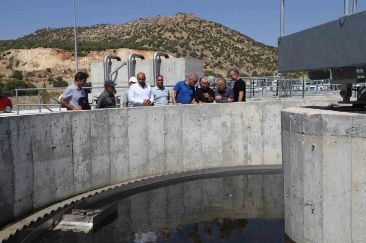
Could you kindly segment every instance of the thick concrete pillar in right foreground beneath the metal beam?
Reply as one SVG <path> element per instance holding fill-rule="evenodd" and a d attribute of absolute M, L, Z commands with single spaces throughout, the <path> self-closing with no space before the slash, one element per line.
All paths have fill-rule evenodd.
<path fill-rule="evenodd" d="M 366 242 L 366 114 L 282 112 L 285 230 L 295 242 Z"/>

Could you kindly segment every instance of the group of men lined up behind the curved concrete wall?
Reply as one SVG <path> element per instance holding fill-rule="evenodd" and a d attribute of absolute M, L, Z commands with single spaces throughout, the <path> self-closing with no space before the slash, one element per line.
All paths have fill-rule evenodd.
<path fill-rule="evenodd" d="M 83 110 L 85 107 L 80 105 L 80 100 L 85 97 L 82 87 L 86 84 L 86 74 L 78 72 L 75 75 L 75 83 L 65 89 L 59 103 L 68 110 Z M 246 84 L 240 78 L 239 71 L 236 68 L 230 69 L 230 78 L 234 81 L 233 88 L 226 85 L 226 80 L 220 78 L 217 82 L 217 88 L 210 88 L 210 79 L 207 77 L 200 78 L 198 83 L 197 74 L 191 74 L 186 80 L 176 83 L 170 91 L 164 86 L 164 77 L 156 76 L 156 86 L 151 87 L 146 84 L 146 75 L 139 72 L 136 77 L 129 79 L 130 88 L 123 94 L 123 107 L 140 107 L 140 106 L 165 106 L 169 104 L 170 97 L 173 105 L 182 104 L 203 104 L 203 103 L 231 103 L 245 102 Z M 197 86 L 196 86 L 197 85 Z M 97 109 L 115 108 L 115 87 L 116 84 L 112 80 L 104 82 L 104 91 L 97 100 Z M 88 108 L 90 106 L 88 105 Z"/>

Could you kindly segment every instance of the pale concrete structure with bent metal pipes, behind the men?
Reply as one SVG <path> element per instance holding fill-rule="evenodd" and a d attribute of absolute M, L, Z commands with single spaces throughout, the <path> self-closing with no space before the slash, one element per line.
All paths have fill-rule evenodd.
<path fill-rule="evenodd" d="M 108 72 L 119 66 L 124 61 L 112 61 L 112 65 L 108 65 Z M 103 62 L 94 62 L 91 64 L 92 86 L 101 87 L 104 85 L 104 67 Z M 136 59 L 136 64 L 132 65 L 132 75 L 144 72 L 146 75 L 146 83 L 150 86 L 154 85 L 153 77 L 153 60 Z M 161 58 L 158 62 L 158 73 L 164 76 L 164 85 L 173 86 L 178 81 L 185 80 L 192 73 L 203 76 L 202 60 L 190 58 Z M 127 65 L 121 67 L 117 73 L 112 75 L 114 82 L 119 86 L 128 86 L 128 70 Z M 117 95 L 121 95 L 125 88 L 117 88 Z M 93 96 L 99 96 L 103 90 L 92 90 Z"/>

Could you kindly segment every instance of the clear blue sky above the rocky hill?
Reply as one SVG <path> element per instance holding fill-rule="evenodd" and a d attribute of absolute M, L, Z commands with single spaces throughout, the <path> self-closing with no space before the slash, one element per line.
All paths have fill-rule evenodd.
<path fill-rule="evenodd" d="M 352 0 L 350 0 L 352 10 Z M 230 5 L 228 5 L 228 3 Z M 343 15 L 343 0 L 285 2 L 285 35 L 335 20 Z M 121 24 L 144 17 L 178 12 L 220 23 L 267 45 L 277 46 L 280 0 L 75 0 L 78 26 Z M 358 1 L 357 12 L 366 10 Z M 16 39 L 40 28 L 74 25 L 72 0 L 2 1 L 0 40 Z"/>

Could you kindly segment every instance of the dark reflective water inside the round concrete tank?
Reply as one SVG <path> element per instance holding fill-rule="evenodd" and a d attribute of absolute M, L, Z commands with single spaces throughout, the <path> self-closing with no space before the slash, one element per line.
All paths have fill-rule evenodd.
<path fill-rule="evenodd" d="M 179 183 L 118 200 L 118 215 L 88 233 L 49 230 L 34 242 L 283 243 L 282 188 L 282 175 Z"/>

